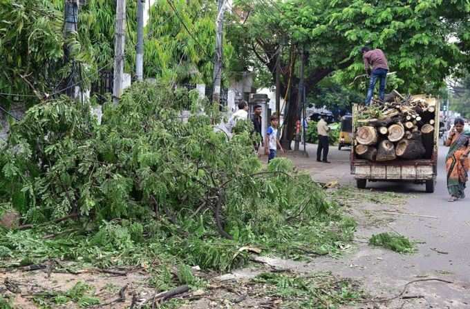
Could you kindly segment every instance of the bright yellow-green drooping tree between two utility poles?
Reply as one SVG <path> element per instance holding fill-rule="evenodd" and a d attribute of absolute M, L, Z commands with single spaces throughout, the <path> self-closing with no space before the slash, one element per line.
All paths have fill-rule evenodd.
<path fill-rule="evenodd" d="M 158 1 L 144 42 L 144 74 L 166 81 L 212 84 L 215 1 Z M 232 56 L 224 43 L 224 61 Z"/>

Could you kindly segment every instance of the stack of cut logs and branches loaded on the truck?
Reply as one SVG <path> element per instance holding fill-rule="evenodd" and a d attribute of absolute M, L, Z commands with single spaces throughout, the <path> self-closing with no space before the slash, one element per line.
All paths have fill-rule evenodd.
<path fill-rule="evenodd" d="M 355 154 L 369 161 L 431 159 L 434 148 L 435 105 L 395 92 L 391 102 L 359 110 Z M 379 109 L 379 119 L 361 119 L 368 109 Z"/>

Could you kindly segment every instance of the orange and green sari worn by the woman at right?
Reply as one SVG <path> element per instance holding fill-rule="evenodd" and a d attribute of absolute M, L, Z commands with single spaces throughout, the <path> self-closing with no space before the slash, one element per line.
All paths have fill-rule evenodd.
<path fill-rule="evenodd" d="M 469 137 L 465 134 L 455 134 L 446 157 L 447 190 L 452 197 L 465 197 L 465 183 L 470 169 L 469 159 L 463 161 L 462 155 L 469 145 Z"/>

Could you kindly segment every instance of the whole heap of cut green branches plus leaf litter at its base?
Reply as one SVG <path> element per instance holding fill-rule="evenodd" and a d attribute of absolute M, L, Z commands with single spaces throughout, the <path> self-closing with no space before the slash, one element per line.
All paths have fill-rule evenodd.
<path fill-rule="evenodd" d="M 0 155 L 0 198 L 34 229 L 0 231 L 3 266 L 160 259 L 229 270 L 247 261 L 247 244 L 288 257 L 344 248 L 355 222 L 287 159 L 263 168 L 249 127 L 232 139 L 214 131 L 208 106 L 137 83 L 106 104 L 100 126 L 65 97 L 28 110 Z"/>

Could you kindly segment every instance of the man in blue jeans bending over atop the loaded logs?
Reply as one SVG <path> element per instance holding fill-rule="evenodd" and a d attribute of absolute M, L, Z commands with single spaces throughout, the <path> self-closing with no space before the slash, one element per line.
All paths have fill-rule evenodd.
<path fill-rule="evenodd" d="M 373 97 L 375 83 L 379 79 L 379 99 L 384 101 L 385 97 L 385 83 L 387 79 L 388 72 L 388 62 L 385 57 L 384 52 L 376 48 L 375 50 L 370 50 L 367 46 L 361 49 L 362 58 L 364 59 L 364 66 L 366 68 L 367 74 L 370 76 L 369 88 L 367 90 L 366 105 L 370 104 L 370 100 Z"/>

